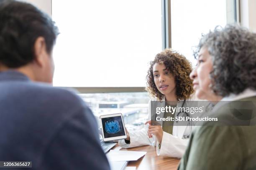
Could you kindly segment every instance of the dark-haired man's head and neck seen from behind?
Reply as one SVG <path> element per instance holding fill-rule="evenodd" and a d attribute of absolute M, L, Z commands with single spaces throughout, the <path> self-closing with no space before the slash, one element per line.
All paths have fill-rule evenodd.
<path fill-rule="evenodd" d="M 51 83 L 59 34 L 51 18 L 26 2 L 0 0 L 0 23 L 0 71 L 14 69 Z"/>

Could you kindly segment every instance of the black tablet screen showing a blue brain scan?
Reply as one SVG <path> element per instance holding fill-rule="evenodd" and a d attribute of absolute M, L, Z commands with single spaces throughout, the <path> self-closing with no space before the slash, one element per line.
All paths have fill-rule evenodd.
<path fill-rule="evenodd" d="M 104 138 L 113 138 L 117 136 L 124 136 L 125 129 L 123 127 L 122 117 L 104 117 L 101 118 Z"/>

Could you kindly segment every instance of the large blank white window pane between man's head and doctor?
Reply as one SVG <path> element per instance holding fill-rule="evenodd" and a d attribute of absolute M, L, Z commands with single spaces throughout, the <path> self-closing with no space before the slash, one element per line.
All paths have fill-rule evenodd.
<path fill-rule="evenodd" d="M 52 0 L 54 86 L 145 87 L 162 50 L 161 0 Z"/>

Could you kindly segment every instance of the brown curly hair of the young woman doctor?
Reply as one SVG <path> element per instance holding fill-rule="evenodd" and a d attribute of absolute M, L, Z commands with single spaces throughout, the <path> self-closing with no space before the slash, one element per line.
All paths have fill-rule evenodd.
<path fill-rule="evenodd" d="M 166 49 L 157 54 L 155 59 L 150 62 L 150 67 L 146 76 L 146 90 L 152 97 L 162 100 L 164 95 L 159 92 L 154 82 L 153 65 L 155 63 L 163 63 L 167 70 L 174 75 L 177 100 L 189 98 L 194 90 L 192 80 L 189 78 L 189 74 L 192 71 L 192 66 L 186 57 L 172 49 Z"/>

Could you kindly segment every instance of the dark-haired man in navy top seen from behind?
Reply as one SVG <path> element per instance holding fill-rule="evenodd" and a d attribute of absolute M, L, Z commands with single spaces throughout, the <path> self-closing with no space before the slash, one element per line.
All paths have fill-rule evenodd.
<path fill-rule="evenodd" d="M 35 170 L 109 170 L 91 110 L 51 86 L 58 35 L 51 18 L 2 0 L 0 23 L 0 160 L 32 161 Z"/>

